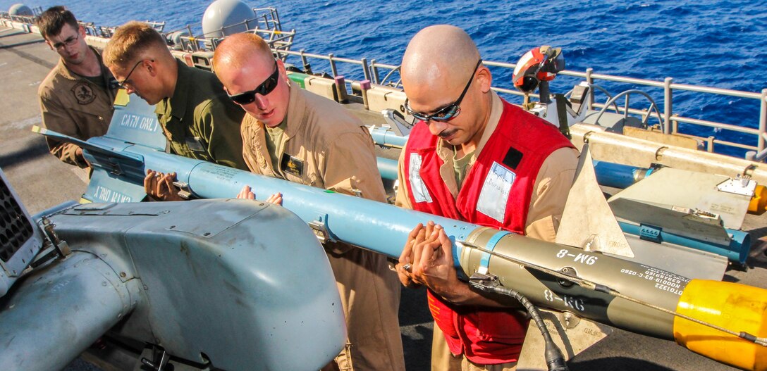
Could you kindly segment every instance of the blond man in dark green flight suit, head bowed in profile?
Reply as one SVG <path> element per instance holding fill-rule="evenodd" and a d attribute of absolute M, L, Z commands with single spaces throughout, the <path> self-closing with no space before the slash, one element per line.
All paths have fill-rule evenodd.
<path fill-rule="evenodd" d="M 154 112 L 170 153 L 248 169 L 239 135 L 245 112 L 226 97 L 214 74 L 176 60 L 163 35 L 150 25 L 131 21 L 117 28 L 104 49 L 104 64 L 128 94 L 156 105 Z M 172 177 L 148 169 L 144 181 L 147 194 L 177 200 L 177 190 L 170 184 Z"/>

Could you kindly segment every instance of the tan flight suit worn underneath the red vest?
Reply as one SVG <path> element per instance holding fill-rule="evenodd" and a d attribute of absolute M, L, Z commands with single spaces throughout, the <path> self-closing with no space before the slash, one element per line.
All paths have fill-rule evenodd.
<path fill-rule="evenodd" d="M 471 166 L 476 162 L 477 156 L 482 152 L 482 148 L 487 140 L 495 131 L 501 119 L 503 105 L 501 99 L 495 92 L 492 92 L 492 108 L 490 118 L 482 139 L 474 151 L 466 172 L 469 172 Z M 397 177 L 400 184 L 403 182 L 403 156 L 402 151 L 399 161 Z M 455 198 L 458 195 L 458 186 L 456 185 L 455 172 L 453 171 L 453 146 L 443 140 L 437 142 L 437 155 L 443 160 L 443 169 L 449 171 L 440 171 L 443 182 L 448 186 L 450 192 Z M 538 176 L 533 186 L 534 192 L 530 199 L 528 208 L 528 217 L 525 222 L 525 234 L 532 238 L 543 241 L 553 242 L 556 238 L 556 231 L 561 222 L 562 212 L 565 211 L 565 202 L 568 199 L 568 192 L 573 183 L 575 169 L 578 167 L 578 151 L 572 148 L 561 148 L 552 152 L 544 160 L 541 169 L 538 170 Z M 397 189 L 397 206 L 403 208 L 413 208 L 410 198 L 407 195 L 407 187 L 400 186 Z M 434 337 L 432 341 L 432 370 L 433 371 L 509 371 L 516 368 L 516 363 L 503 363 L 499 365 L 475 365 L 469 362 L 465 356 L 454 356 L 450 353 L 447 342 L 438 326 L 434 326 Z"/>

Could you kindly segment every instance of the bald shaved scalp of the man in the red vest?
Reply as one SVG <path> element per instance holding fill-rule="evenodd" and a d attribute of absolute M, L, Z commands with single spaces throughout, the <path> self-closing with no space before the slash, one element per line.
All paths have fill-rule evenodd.
<path fill-rule="evenodd" d="M 461 85 L 466 84 L 477 61 L 479 51 L 469 34 L 455 26 L 434 25 L 410 40 L 400 74 L 410 84 Z"/>

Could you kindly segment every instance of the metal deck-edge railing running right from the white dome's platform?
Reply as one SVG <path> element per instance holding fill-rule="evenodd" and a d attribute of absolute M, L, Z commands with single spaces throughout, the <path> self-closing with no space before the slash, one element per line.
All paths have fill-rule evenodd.
<path fill-rule="evenodd" d="M 333 77 L 336 77 L 338 73 L 338 66 L 337 64 L 353 64 L 356 65 L 362 73 L 362 77 L 364 80 L 370 80 L 374 84 L 384 84 L 389 85 L 392 87 L 400 87 L 401 84 L 400 81 L 393 80 L 393 76 L 395 74 L 398 75 L 399 73 L 399 66 L 395 66 L 392 64 L 382 64 L 377 63 L 375 59 L 368 60 L 367 58 L 361 58 L 360 60 L 351 59 L 351 58 L 344 58 L 344 57 L 336 57 L 334 54 L 311 54 L 306 53 L 304 50 L 301 51 L 275 51 L 275 53 L 280 54 L 281 56 L 288 57 L 298 57 L 301 60 L 301 64 L 299 66 L 304 67 L 304 69 L 311 69 L 311 60 L 322 60 L 327 61 L 327 63 L 330 66 L 331 74 Z M 502 63 L 502 62 L 494 62 L 494 61 L 484 61 L 484 64 L 486 66 L 492 66 L 492 67 L 500 67 L 509 69 L 509 76 L 511 76 L 511 71 L 514 70 L 514 67 L 516 67 L 516 64 L 511 63 Z M 383 73 L 386 73 L 385 75 Z M 571 76 L 571 77 L 578 77 L 588 82 L 588 84 L 591 84 L 593 87 L 595 84 L 598 85 L 601 81 L 611 81 L 611 82 L 617 82 L 617 83 L 626 83 L 626 84 L 633 84 L 640 88 L 654 88 L 661 90 L 663 92 L 663 100 L 660 100 L 660 103 L 663 104 L 663 122 L 659 123 L 663 128 L 663 133 L 674 133 L 674 134 L 681 134 L 684 136 L 690 136 L 693 138 L 696 138 L 697 140 L 702 141 L 706 144 L 706 150 L 709 152 L 713 152 L 714 145 L 719 146 L 729 146 L 739 149 L 746 149 L 746 151 L 749 151 L 749 153 L 746 153 L 746 157 L 749 159 L 755 159 L 757 161 L 763 161 L 765 158 L 767 158 L 767 149 L 765 149 L 765 144 L 767 144 L 767 89 L 762 90 L 761 93 L 754 93 L 754 92 L 748 92 L 748 91 L 741 91 L 741 90 L 729 90 L 729 89 L 721 89 L 717 87 L 703 87 L 703 86 L 697 86 L 697 85 L 689 85 L 689 84 L 675 84 L 673 83 L 673 78 L 667 77 L 663 81 L 656 81 L 656 80 L 644 80 L 644 79 L 637 79 L 633 77 L 621 77 L 621 76 L 613 76 L 608 74 L 595 74 L 594 70 L 592 68 L 588 68 L 585 72 L 580 71 L 561 71 L 559 74 L 565 75 L 565 76 Z M 381 76 L 384 77 L 381 77 Z M 351 79 L 347 79 L 347 82 L 351 83 Z M 511 94 L 515 96 L 524 96 L 522 92 L 515 90 L 515 89 L 509 89 L 505 87 L 492 87 L 493 90 L 502 93 L 502 94 Z M 604 90 L 606 91 L 606 90 Z M 746 126 L 738 126 L 738 125 L 732 125 L 729 123 L 720 123 L 716 121 L 709 121 L 709 120 L 700 120 L 693 117 L 684 117 L 681 116 L 678 113 L 674 113 L 673 111 L 673 96 L 675 91 L 690 91 L 690 92 L 697 92 L 702 94 L 715 94 L 720 96 L 729 96 L 729 97 L 741 97 L 746 98 L 748 100 L 755 100 L 755 103 L 759 103 L 759 126 L 757 128 L 751 128 Z M 537 94 L 531 94 L 532 97 L 538 97 Z M 624 113 L 624 114 L 634 114 L 639 115 L 643 117 L 643 119 L 646 119 L 648 115 L 650 115 L 649 109 L 635 109 L 631 108 L 629 104 L 628 96 L 625 98 L 625 103 L 621 106 L 619 104 L 611 104 L 610 107 L 607 107 L 607 110 L 611 110 L 613 112 L 617 113 Z M 649 106 L 649 103 L 648 103 Z M 588 108 L 590 110 L 600 110 L 603 107 L 605 107 L 604 103 L 598 103 L 594 101 L 594 95 L 591 95 L 591 100 L 588 102 Z M 644 120 L 643 120 L 644 121 Z M 745 133 L 749 136 L 755 137 L 755 144 L 745 144 L 745 143 L 736 143 L 729 140 L 722 140 L 717 138 L 716 136 L 709 136 L 709 137 L 703 137 L 703 136 L 695 136 L 691 134 L 686 133 L 680 133 L 679 131 L 679 124 L 680 123 L 686 123 L 690 124 L 691 126 L 702 126 L 707 128 L 712 128 L 715 130 L 731 130 L 738 133 Z"/>

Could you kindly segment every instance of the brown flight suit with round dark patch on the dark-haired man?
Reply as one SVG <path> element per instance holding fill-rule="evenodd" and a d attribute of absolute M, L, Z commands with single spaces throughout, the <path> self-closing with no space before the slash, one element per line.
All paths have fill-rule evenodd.
<path fill-rule="evenodd" d="M 117 94 L 117 84 L 112 73 L 101 63 L 101 55 L 96 49 L 91 50 L 99 60 L 103 84 L 94 84 L 74 74 L 64 65 L 64 60 L 59 58 L 58 65 L 48 73 L 38 88 L 43 126 L 79 140 L 107 133 L 114 113 L 114 96 Z M 75 156 L 79 146 L 47 137 L 45 140 L 51 153 L 64 163 L 87 167 L 87 163 Z"/>

